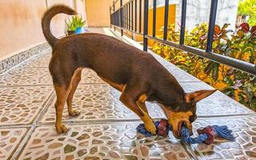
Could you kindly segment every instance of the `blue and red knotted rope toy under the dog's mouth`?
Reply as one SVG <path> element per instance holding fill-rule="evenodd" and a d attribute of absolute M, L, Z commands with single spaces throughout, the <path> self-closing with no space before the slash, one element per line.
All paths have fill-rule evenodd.
<path fill-rule="evenodd" d="M 171 127 L 168 125 L 168 121 L 166 119 L 161 119 L 160 122 L 154 122 L 154 126 L 157 127 L 157 134 L 166 136 L 171 130 Z M 144 126 L 144 124 L 140 124 L 137 127 L 137 131 L 141 134 L 144 134 L 146 137 L 150 137 L 152 134 L 148 132 Z M 186 126 L 182 126 L 181 130 L 181 140 L 182 142 L 187 142 L 190 144 L 195 143 L 206 143 L 210 145 L 214 142 L 214 138 L 225 138 L 230 141 L 234 141 L 234 135 L 232 134 L 232 130 L 229 130 L 227 126 L 206 126 L 205 128 L 200 128 L 198 131 L 198 137 L 190 138 L 190 130 L 186 128 Z"/>

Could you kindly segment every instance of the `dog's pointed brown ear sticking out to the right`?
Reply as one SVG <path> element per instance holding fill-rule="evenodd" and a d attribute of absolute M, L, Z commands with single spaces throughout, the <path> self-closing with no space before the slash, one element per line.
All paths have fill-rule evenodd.
<path fill-rule="evenodd" d="M 203 98 L 206 98 L 210 96 L 210 94 L 213 94 L 217 90 L 198 90 L 192 93 L 185 94 L 185 100 L 186 102 L 198 102 L 201 101 Z"/>

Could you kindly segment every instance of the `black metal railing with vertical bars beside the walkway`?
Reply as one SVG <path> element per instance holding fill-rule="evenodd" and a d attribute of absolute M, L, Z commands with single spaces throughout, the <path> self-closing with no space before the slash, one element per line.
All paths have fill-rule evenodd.
<path fill-rule="evenodd" d="M 120 2 L 118 10 L 115 10 L 115 4 Z M 235 69 L 245 71 L 249 74 L 256 75 L 256 66 L 250 62 L 245 62 L 235 58 L 230 58 L 222 54 L 216 54 L 212 52 L 212 44 L 214 39 L 214 26 L 216 20 L 218 0 L 211 0 L 210 5 L 210 18 L 209 28 L 207 34 L 206 50 L 200 50 L 192 46 L 186 46 L 184 44 L 185 26 L 186 26 L 186 0 L 182 0 L 182 17 L 181 17 L 181 29 L 180 29 L 180 41 L 170 42 L 167 40 L 168 32 L 168 14 L 169 14 L 169 0 L 165 2 L 165 17 L 164 17 L 164 32 L 163 38 L 156 38 L 156 5 L 157 1 L 153 0 L 153 34 L 148 34 L 148 10 L 149 0 L 130 0 L 125 4 L 122 4 L 122 0 L 116 0 L 113 2 L 113 6 L 110 6 L 110 27 L 114 27 L 114 30 L 118 29 L 123 35 L 123 30 L 129 31 L 133 34 L 139 34 L 143 36 L 143 50 L 147 51 L 148 39 L 152 39 L 156 42 L 172 46 L 179 50 L 184 50 L 191 54 L 198 55 L 202 58 L 208 58 L 211 61 L 225 64 L 227 66 L 234 67 Z M 143 33 L 142 33 L 142 6 L 144 8 L 143 14 Z M 138 19 L 137 19 L 138 18 Z M 138 24 L 137 24 L 138 23 Z"/>

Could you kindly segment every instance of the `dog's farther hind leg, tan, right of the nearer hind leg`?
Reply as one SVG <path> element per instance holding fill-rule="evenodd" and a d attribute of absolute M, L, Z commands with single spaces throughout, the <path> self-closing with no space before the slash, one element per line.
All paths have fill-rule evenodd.
<path fill-rule="evenodd" d="M 81 74 L 82 74 L 82 69 L 78 68 L 78 70 L 75 70 L 74 75 L 73 75 L 73 81 L 70 89 L 70 94 L 66 99 L 66 104 L 67 104 L 67 109 L 68 112 L 71 116 L 78 116 L 80 112 L 78 110 L 74 110 L 72 107 L 72 102 L 74 98 L 74 92 L 77 90 L 78 83 L 81 81 Z"/>

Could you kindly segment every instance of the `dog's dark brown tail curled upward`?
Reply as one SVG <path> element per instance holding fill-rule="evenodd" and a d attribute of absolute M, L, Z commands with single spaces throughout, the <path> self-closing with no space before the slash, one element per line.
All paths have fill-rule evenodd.
<path fill-rule="evenodd" d="M 46 10 L 45 14 L 42 17 L 42 32 L 51 47 L 54 47 L 58 41 L 58 38 L 55 38 L 54 35 L 50 32 L 50 20 L 56 14 L 74 15 L 77 13 L 76 11 L 71 9 L 69 6 L 65 6 L 65 5 L 51 6 L 48 10 Z"/>

